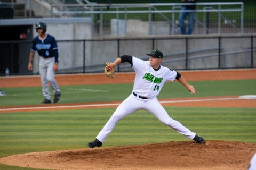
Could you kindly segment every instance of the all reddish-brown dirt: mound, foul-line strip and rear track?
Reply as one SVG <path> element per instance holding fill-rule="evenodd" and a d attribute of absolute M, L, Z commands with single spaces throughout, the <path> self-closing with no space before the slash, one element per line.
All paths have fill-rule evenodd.
<path fill-rule="evenodd" d="M 180 73 L 185 75 L 188 81 L 256 79 L 256 69 L 180 71 Z M 123 79 L 124 77 L 125 79 Z M 117 73 L 115 79 L 106 78 L 103 74 L 56 75 L 56 79 L 59 86 L 66 86 L 69 83 L 132 83 L 134 73 Z M 0 78 L 0 84 L 1 87 L 10 87 L 10 84 L 12 87 L 26 87 L 27 84 L 41 86 L 38 76 Z M 256 107 L 256 99 L 241 99 L 238 96 L 179 98 L 159 101 L 164 106 Z M 97 104 L 106 105 L 101 107 L 116 107 L 119 102 L 113 102 L 109 105 L 107 103 Z M 61 107 L 64 106 L 61 103 L 47 105 L 50 108 L 40 106 L 19 106 L 16 110 L 14 106 L 5 106 L 0 107 L 0 113 L 18 112 L 21 108 L 22 111 L 31 111 L 31 109 L 39 111 L 41 109 L 74 109 L 76 106 L 79 108 L 98 107 L 93 103 L 68 104 L 70 107 L 65 108 Z M 170 141 L 147 145 L 94 149 L 85 146 L 84 149 L 78 150 L 34 152 L 0 158 L 0 163 L 44 169 L 247 169 L 255 151 L 256 145 L 254 143 L 207 140 L 206 145 L 199 145 L 194 141 Z"/>

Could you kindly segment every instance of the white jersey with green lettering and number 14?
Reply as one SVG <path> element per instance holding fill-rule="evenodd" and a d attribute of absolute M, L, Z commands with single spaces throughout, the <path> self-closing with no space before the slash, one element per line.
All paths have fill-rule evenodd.
<path fill-rule="evenodd" d="M 143 61 L 136 57 L 132 57 L 132 64 L 136 72 L 133 92 L 147 98 L 155 98 L 164 83 L 167 80 L 174 81 L 177 75 L 176 71 L 172 71 L 162 65 L 159 70 L 155 71 L 150 66 L 149 61 Z"/>

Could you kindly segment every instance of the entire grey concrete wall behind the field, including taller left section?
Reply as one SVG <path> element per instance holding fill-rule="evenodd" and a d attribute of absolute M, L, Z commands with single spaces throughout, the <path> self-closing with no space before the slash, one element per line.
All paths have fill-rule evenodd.
<path fill-rule="evenodd" d="M 253 67 L 256 66 L 255 51 L 253 58 L 251 54 L 251 37 L 254 36 L 255 47 L 256 35 L 168 35 L 165 24 L 154 23 L 156 28 L 161 28 L 159 32 L 163 35 L 149 36 L 146 22 L 131 20 L 129 27 L 126 27 L 133 32 L 130 36 L 92 37 L 90 18 L 0 20 L 0 25 L 33 25 L 35 37 L 37 33 L 34 27 L 39 21 L 47 23 L 47 33 L 57 40 L 59 73 L 102 72 L 106 62 L 124 54 L 148 60 L 146 54 L 153 48 L 162 50 L 164 66 L 176 70 L 247 68 L 251 67 L 252 62 Z M 141 28 L 145 28 L 144 32 Z M 26 50 L 27 54 L 24 55 L 29 56 L 29 49 L 20 50 Z M 34 74 L 38 73 L 38 63 L 39 56 L 36 55 Z M 118 70 L 133 71 L 127 63 L 120 65 Z"/>

